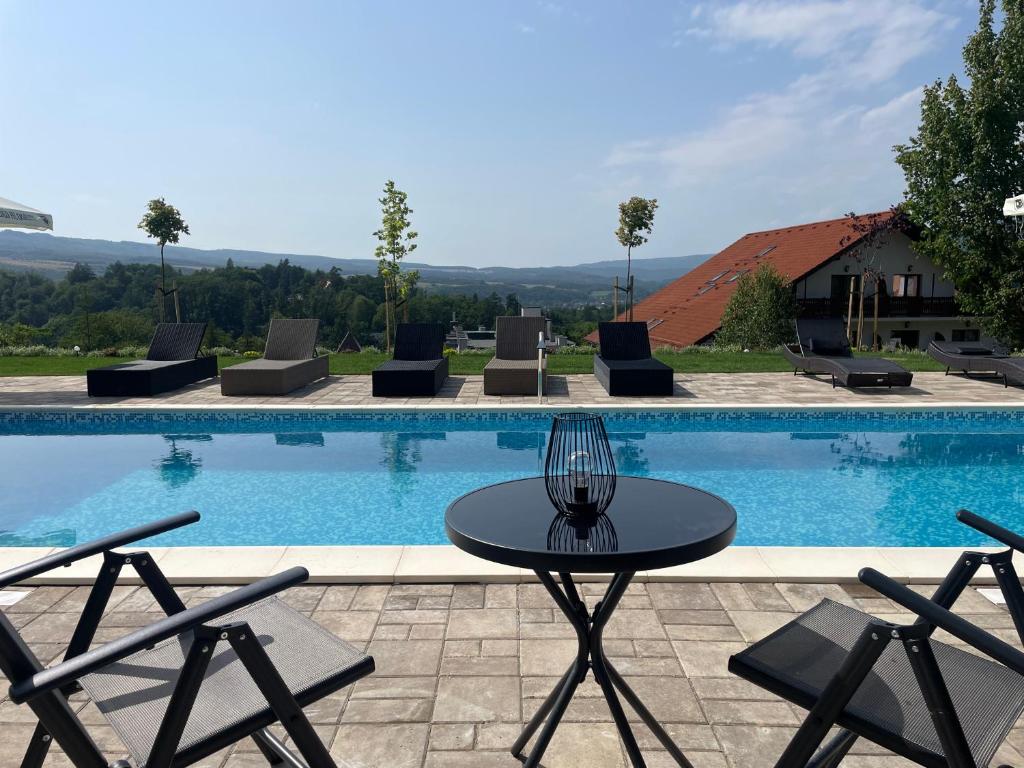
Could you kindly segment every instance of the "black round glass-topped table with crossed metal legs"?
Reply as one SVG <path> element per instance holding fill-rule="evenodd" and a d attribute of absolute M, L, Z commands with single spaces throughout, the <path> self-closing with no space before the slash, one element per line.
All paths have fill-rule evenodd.
<path fill-rule="evenodd" d="M 645 765 L 618 701 L 630 703 L 658 741 L 684 768 L 692 768 L 622 675 L 608 662 L 602 632 L 636 571 L 694 562 L 720 552 L 736 534 L 736 511 L 713 494 L 666 480 L 620 477 L 604 514 L 588 523 L 559 515 L 543 477 L 488 485 L 456 499 L 444 514 L 449 539 L 492 562 L 530 568 L 577 632 L 579 650 L 569 669 L 512 745 L 520 757 L 544 728 L 525 759 L 537 766 L 575 689 L 594 671 L 635 768 Z M 593 612 L 580 598 L 572 573 L 614 575 Z M 561 586 L 553 573 L 558 573 Z"/>

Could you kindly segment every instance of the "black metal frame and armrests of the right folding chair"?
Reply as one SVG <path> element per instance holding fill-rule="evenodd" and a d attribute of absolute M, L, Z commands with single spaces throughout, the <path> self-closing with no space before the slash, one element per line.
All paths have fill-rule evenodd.
<path fill-rule="evenodd" d="M 1015 550 L 1024 553 L 1024 538 L 967 510 L 957 512 L 956 518 L 1006 544 L 1008 549 L 994 554 L 965 551 L 931 599 L 873 568 L 862 569 L 858 577 L 862 584 L 916 613 L 918 618 L 911 625 L 896 625 L 881 620 L 867 625 L 841 668 L 810 707 L 807 718 L 775 763 L 776 768 L 837 768 L 859 736 L 876 740 L 870 733 L 855 733 L 843 728 L 828 743 L 820 746 L 831 727 L 842 725 L 846 706 L 871 672 L 879 656 L 893 641 L 900 642 L 906 651 L 946 760 L 944 763 L 936 763 L 932 753 L 924 750 L 916 755 L 907 754 L 906 751 L 901 754 L 925 766 L 976 768 L 964 728 L 935 660 L 930 639 L 935 629 L 941 628 L 1024 676 L 1024 653 L 949 610 L 978 570 L 983 565 L 989 565 L 1007 601 L 1017 634 L 1024 643 L 1024 589 L 1021 588 L 1012 562 Z M 748 675 L 744 677 L 750 679 Z M 767 679 L 752 682 L 771 689 Z M 886 740 L 888 739 L 883 737 L 880 742 Z"/>

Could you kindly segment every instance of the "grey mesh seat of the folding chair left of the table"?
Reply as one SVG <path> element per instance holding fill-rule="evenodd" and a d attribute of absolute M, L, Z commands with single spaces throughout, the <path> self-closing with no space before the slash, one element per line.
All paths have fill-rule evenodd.
<path fill-rule="evenodd" d="M 238 622 L 249 624 L 300 703 L 301 694 L 314 686 L 326 695 L 347 684 L 349 671 L 370 660 L 274 597 L 228 613 L 215 625 Z M 148 760 L 190 645 L 190 635 L 182 635 L 80 681 L 139 768 Z M 269 711 L 266 699 L 231 646 L 221 640 L 181 735 L 178 753 Z"/>

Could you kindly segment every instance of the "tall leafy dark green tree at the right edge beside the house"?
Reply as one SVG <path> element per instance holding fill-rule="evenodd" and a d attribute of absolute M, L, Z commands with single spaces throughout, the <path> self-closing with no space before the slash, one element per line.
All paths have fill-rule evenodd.
<path fill-rule="evenodd" d="M 982 0 L 964 47 L 970 85 L 955 77 L 925 88 L 918 134 L 895 147 L 904 207 L 923 229 L 919 253 L 941 266 L 964 311 L 1024 345 L 1024 248 L 1001 214 L 1024 189 L 1024 4 Z"/>

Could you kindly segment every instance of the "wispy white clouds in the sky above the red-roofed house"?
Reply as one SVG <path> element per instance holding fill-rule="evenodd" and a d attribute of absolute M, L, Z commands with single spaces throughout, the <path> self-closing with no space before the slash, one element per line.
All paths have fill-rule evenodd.
<path fill-rule="evenodd" d="M 644 187 L 662 189 L 667 202 L 675 198 L 700 228 L 727 226 L 730 233 L 897 202 L 901 175 L 891 147 L 913 132 L 922 95 L 899 75 L 951 26 L 928 2 L 696 6 L 690 20 L 680 19 L 677 44 L 697 38 L 686 45 L 706 45 L 708 56 L 735 56 L 742 48 L 757 57 L 755 66 L 781 53 L 802 72 L 778 89 L 746 94 L 694 130 L 630 137 L 609 151 L 605 172 L 611 178 L 639 173 Z M 737 199 L 744 201 L 742 220 L 730 208 Z"/>

